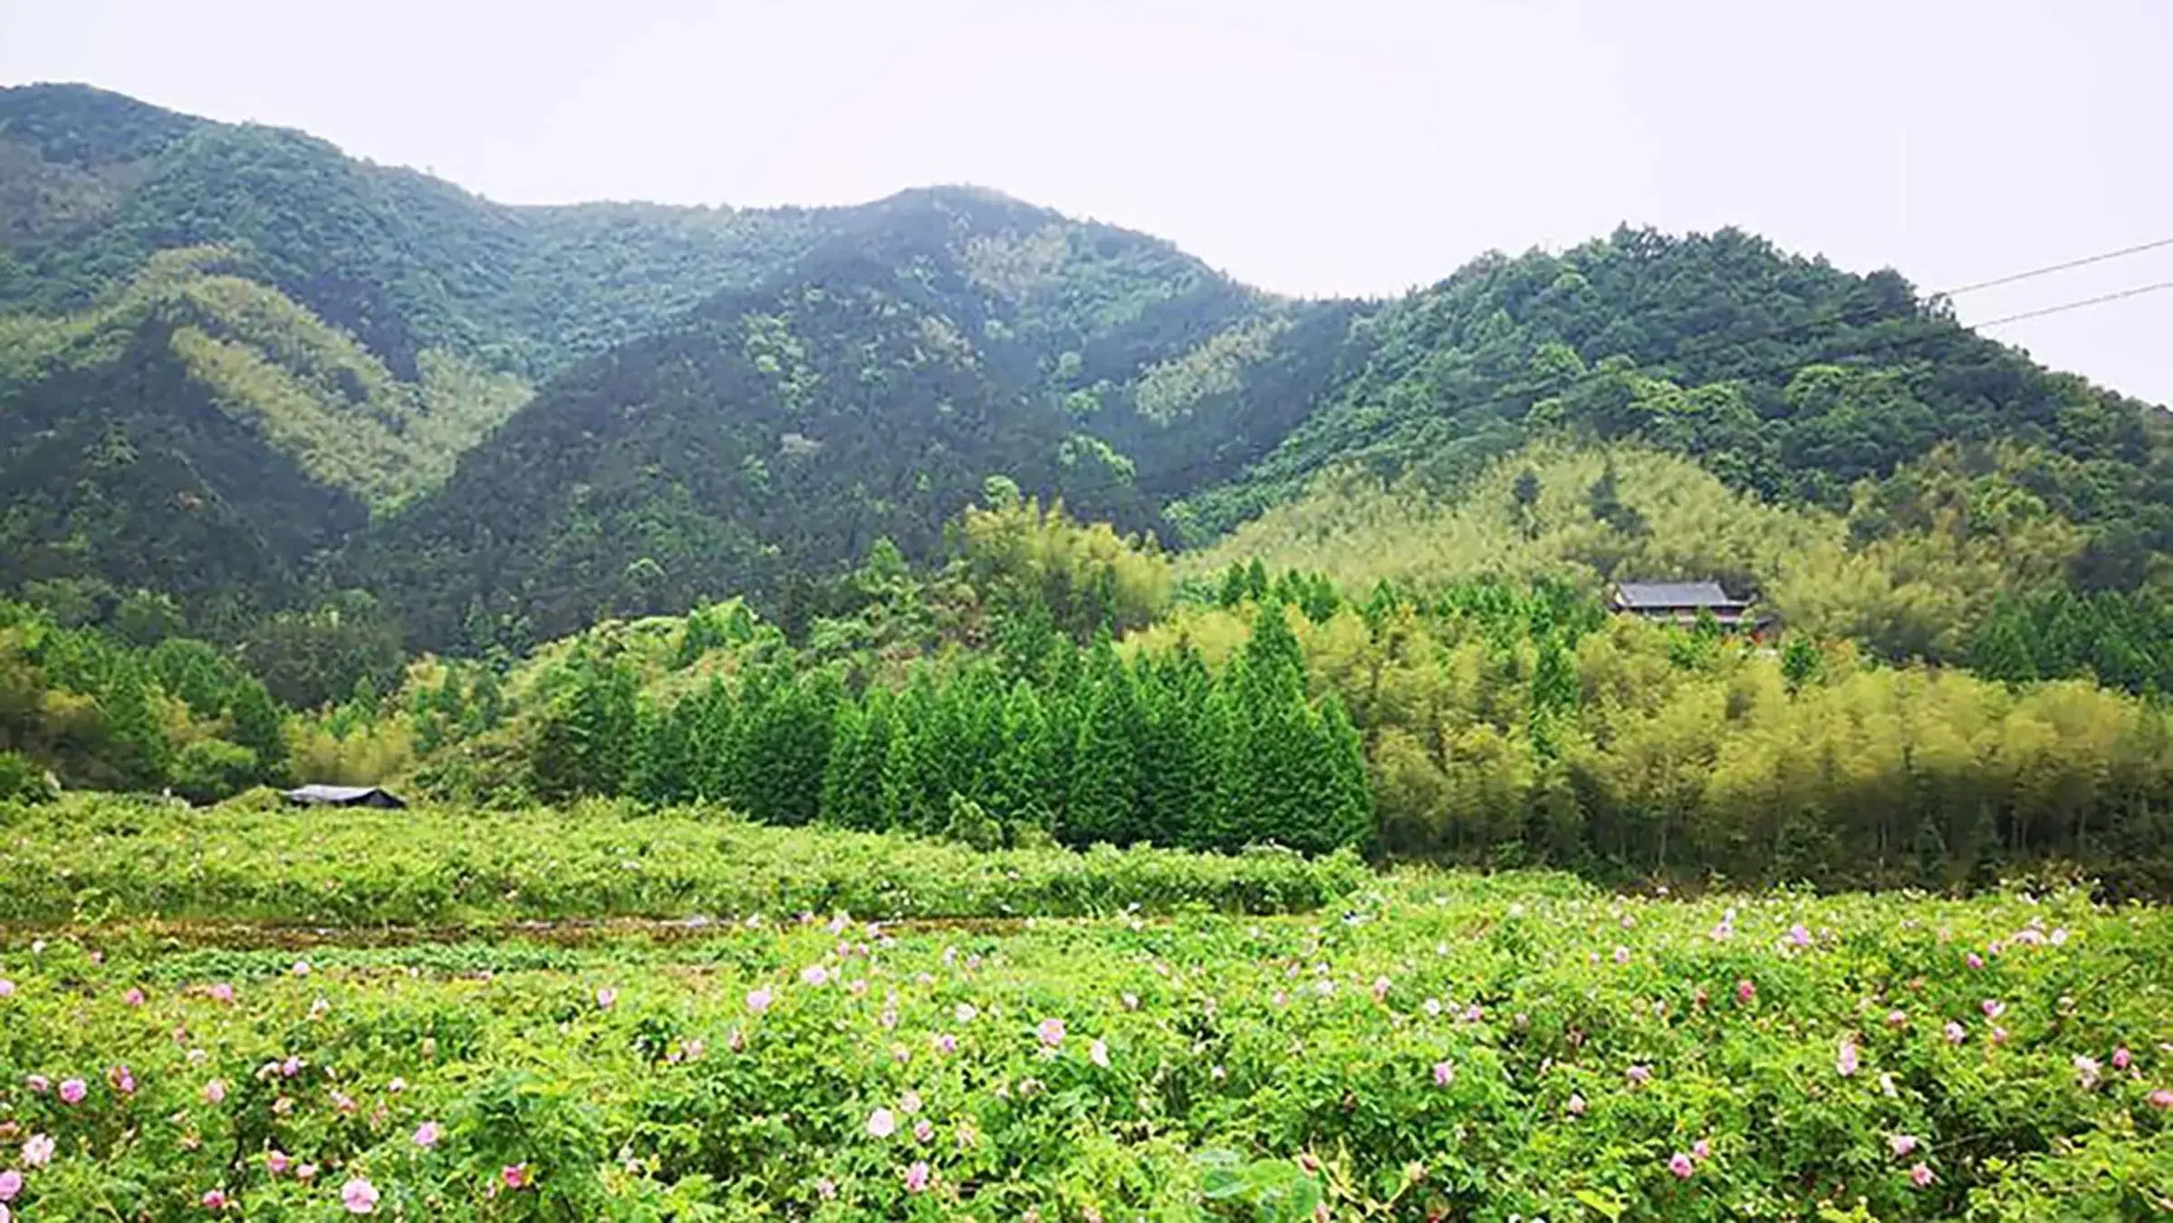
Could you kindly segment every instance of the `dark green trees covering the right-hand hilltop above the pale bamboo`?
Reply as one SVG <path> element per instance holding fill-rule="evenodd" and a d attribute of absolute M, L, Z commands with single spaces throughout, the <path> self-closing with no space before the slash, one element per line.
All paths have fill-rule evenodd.
<path fill-rule="evenodd" d="M 1528 439 L 1636 439 L 1769 502 L 1843 508 L 1938 443 L 2010 441 L 2012 478 L 2088 524 L 2080 578 L 2134 584 L 2173 537 L 2158 413 L 1977 337 L 1893 272 L 1849 276 L 1721 230 L 1617 230 L 1486 256 L 1352 330 L 1345 374 L 1243 480 L 1182 519 L 1206 539 L 1330 467 L 1456 489 Z"/>

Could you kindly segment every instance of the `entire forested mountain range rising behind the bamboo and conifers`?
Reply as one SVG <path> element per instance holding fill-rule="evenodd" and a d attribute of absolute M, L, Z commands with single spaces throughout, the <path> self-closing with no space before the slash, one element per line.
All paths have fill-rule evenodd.
<path fill-rule="evenodd" d="M 502 206 L 302 133 L 0 89 L 0 584 L 74 604 L 161 589 L 239 636 L 367 589 L 415 643 L 522 643 L 774 606 L 876 539 L 932 554 L 997 476 L 1210 545 L 1312 530 L 1354 474 L 1456 513 L 1521 487 L 1504 463 L 1532 445 L 1682 458 L 1858 560 L 2027 506 L 2058 539 L 2010 569 L 2014 597 L 2173 573 L 2162 411 L 1895 272 L 1738 230 L 1623 228 L 1295 302 L 974 187 Z M 1628 510 L 1586 493 L 1593 521 L 1651 517 L 1634 478 L 1610 493 Z M 1693 552 L 1562 558 L 1599 578 Z M 1947 571 L 1997 565 L 1980 552 Z M 1912 589 L 1895 565 L 1873 569 Z M 1954 606 L 1969 623 L 1867 632 L 1951 654 L 1990 615 Z"/>

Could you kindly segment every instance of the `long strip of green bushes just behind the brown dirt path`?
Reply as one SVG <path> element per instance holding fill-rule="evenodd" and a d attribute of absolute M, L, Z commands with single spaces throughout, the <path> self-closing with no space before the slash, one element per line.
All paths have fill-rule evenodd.
<path fill-rule="evenodd" d="M 106 795 L 0 806 L 0 921 L 491 925 L 852 908 L 874 917 L 1291 912 L 1369 875 L 1354 856 L 978 852 L 784 830 L 719 808 L 298 810 L 256 791 L 189 808 Z M 691 925 L 689 930 L 698 930 Z"/>

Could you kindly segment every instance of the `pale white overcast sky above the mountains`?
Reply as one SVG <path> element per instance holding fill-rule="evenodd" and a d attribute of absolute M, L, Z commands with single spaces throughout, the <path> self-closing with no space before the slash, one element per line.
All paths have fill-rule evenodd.
<path fill-rule="evenodd" d="M 0 80 L 506 202 L 980 182 L 1304 295 L 1625 219 L 1925 289 L 2173 237 L 2173 0 L 0 0 Z M 2162 280 L 2173 248 L 1956 306 Z M 2173 291 L 1995 335 L 2173 404 Z"/>

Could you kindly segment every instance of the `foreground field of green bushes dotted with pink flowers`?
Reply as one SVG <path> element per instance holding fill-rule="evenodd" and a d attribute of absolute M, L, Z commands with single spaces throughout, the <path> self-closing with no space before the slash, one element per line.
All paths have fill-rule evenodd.
<path fill-rule="evenodd" d="M 0 1219 L 2173 1210 L 2173 919 L 2082 893 L 285 938 L 13 925 Z"/>

